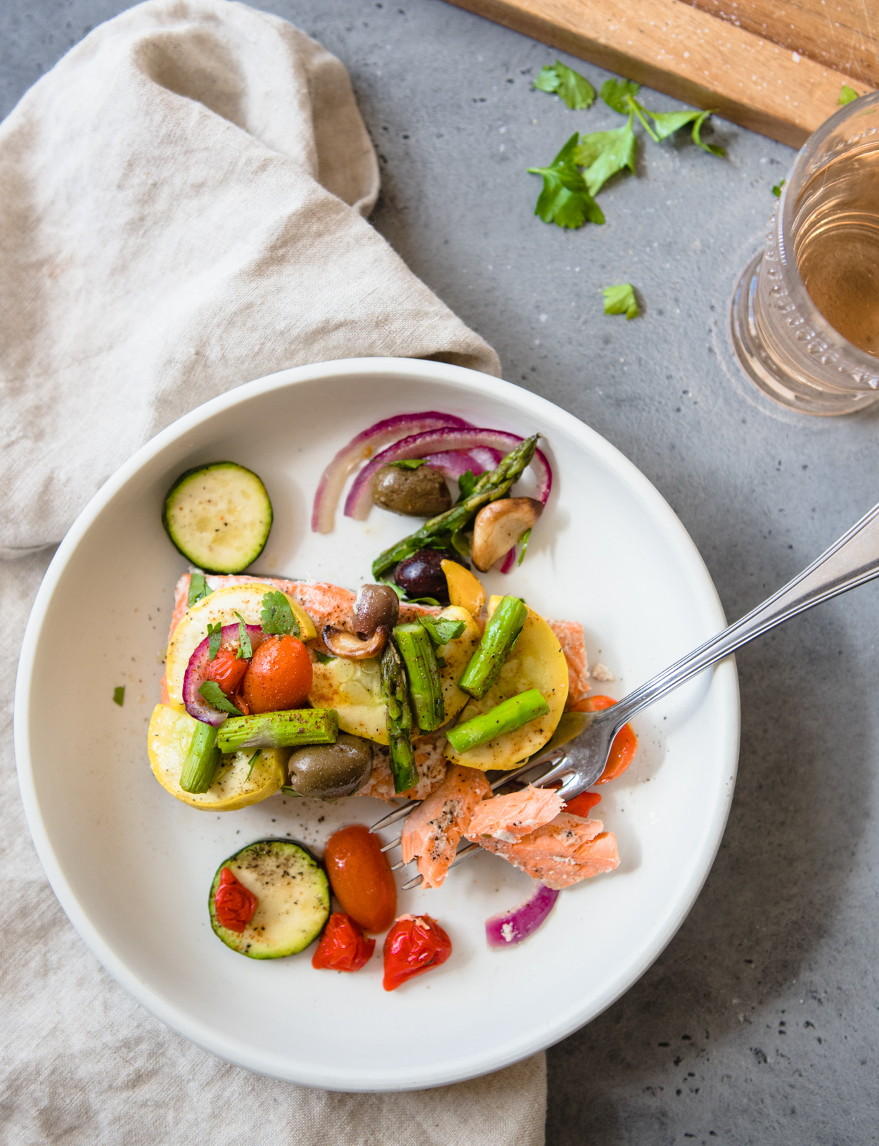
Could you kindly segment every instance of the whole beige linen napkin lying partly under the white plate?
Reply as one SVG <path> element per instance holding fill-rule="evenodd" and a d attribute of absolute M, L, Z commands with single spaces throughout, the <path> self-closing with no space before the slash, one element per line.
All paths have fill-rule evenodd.
<path fill-rule="evenodd" d="M 543 1055 L 410 1094 L 228 1066 L 109 979 L 52 895 L 11 760 L 13 664 L 49 554 L 180 414 L 289 366 L 494 352 L 364 221 L 375 155 L 345 69 L 284 21 L 154 0 L 0 125 L 0 1141 L 540 1146 Z M 63 758 L 58 759 L 63 778 Z"/>

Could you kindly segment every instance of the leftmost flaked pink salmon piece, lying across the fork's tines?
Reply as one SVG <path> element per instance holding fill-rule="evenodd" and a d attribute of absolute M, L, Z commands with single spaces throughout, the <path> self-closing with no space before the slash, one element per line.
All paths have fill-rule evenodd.
<path fill-rule="evenodd" d="M 446 778 L 406 821 L 403 863 L 418 861 L 424 887 L 440 887 L 474 809 L 492 787 L 478 768 L 452 764 Z"/>

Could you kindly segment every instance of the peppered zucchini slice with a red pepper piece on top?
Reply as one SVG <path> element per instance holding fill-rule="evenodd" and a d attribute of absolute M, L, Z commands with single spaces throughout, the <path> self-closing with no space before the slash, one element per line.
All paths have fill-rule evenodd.
<path fill-rule="evenodd" d="M 257 910 L 243 932 L 217 918 L 215 896 L 228 868 L 257 897 Z M 330 915 L 330 885 L 315 857 L 290 840 L 258 840 L 217 869 L 207 901 L 211 926 L 227 947 L 249 959 L 281 959 L 308 947 Z"/>

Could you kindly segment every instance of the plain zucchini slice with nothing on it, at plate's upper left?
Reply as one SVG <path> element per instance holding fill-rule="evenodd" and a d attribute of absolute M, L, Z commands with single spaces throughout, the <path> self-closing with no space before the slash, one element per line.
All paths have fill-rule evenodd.
<path fill-rule="evenodd" d="M 206 573 L 241 573 L 265 548 L 272 502 L 251 470 L 212 462 L 180 474 L 165 497 L 162 524 L 193 565 Z"/>

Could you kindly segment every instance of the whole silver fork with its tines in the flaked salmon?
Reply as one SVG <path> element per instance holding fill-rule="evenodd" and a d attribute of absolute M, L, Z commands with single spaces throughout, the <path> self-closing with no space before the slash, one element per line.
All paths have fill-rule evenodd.
<path fill-rule="evenodd" d="M 840 592 L 855 589 L 857 586 L 879 576 L 879 520 L 877 518 L 879 518 L 879 505 L 874 505 L 817 560 L 814 560 L 802 573 L 788 581 L 786 586 L 772 594 L 762 605 L 753 609 L 741 620 L 730 625 L 729 628 L 699 645 L 686 657 L 682 657 L 681 660 L 658 673 L 641 688 L 623 697 L 612 708 L 589 714 L 584 730 L 566 746 L 563 759 L 556 760 L 555 763 L 544 758 L 533 760 L 518 771 L 504 776 L 493 786 L 500 786 L 500 784 L 515 779 L 517 776 L 523 776 L 541 763 L 550 763 L 550 768 L 532 782 L 535 786 L 542 787 L 565 777 L 559 788 L 559 795 L 563 799 L 572 800 L 581 792 L 586 792 L 604 771 L 617 733 L 642 708 L 660 700 L 696 676 L 697 673 L 711 668 L 719 660 L 729 657 L 737 649 L 777 625 L 784 623 L 814 605 L 819 605 L 823 601 L 829 601 Z M 414 801 L 411 804 L 397 809 L 390 816 L 379 819 L 371 830 L 375 832 L 395 819 L 408 816 L 418 802 Z M 387 847 L 394 847 L 395 843 Z M 458 851 L 449 866 L 455 866 L 465 856 L 478 850 L 479 845 L 471 843 Z M 419 880 L 421 876 L 409 880 L 403 890 L 415 887 Z"/>

